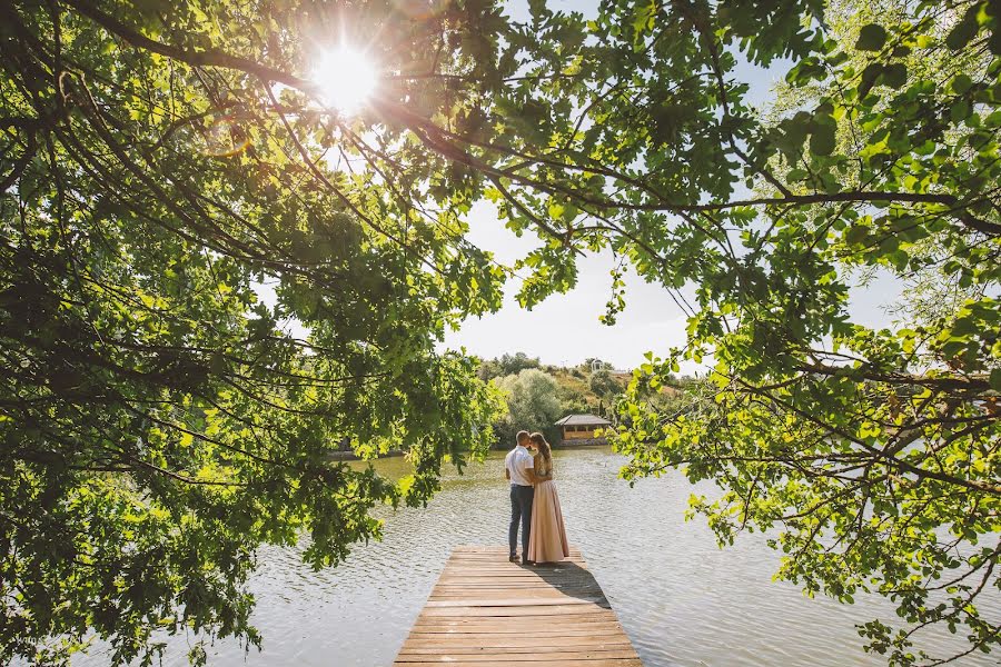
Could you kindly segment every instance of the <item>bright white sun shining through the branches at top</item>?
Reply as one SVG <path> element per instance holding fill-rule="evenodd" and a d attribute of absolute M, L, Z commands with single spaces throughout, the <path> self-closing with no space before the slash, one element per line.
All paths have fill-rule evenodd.
<path fill-rule="evenodd" d="M 371 57 L 347 44 L 321 51 L 313 70 L 320 100 L 344 115 L 357 113 L 365 106 L 377 80 Z"/>

